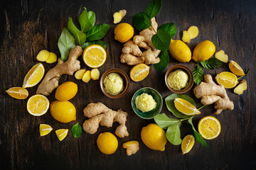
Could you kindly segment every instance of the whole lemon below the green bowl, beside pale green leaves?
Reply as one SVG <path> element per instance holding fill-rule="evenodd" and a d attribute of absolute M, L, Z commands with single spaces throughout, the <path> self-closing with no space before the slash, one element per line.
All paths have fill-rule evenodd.
<path fill-rule="evenodd" d="M 153 150 L 164 151 L 166 145 L 166 133 L 155 123 L 142 128 L 142 142 Z"/>

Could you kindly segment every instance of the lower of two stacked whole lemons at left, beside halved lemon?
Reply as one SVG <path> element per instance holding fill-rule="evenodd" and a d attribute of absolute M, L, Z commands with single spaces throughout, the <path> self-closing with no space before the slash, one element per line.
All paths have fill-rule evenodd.
<path fill-rule="evenodd" d="M 53 101 L 50 103 L 50 114 L 61 123 L 76 120 L 76 109 L 69 101 Z"/>

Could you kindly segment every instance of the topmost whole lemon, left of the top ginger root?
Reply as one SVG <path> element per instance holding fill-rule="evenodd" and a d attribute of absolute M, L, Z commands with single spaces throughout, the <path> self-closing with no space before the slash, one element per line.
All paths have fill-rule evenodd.
<path fill-rule="evenodd" d="M 119 42 L 127 42 L 134 35 L 134 28 L 129 23 L 119 23 L 114 28 L 114 39 Z"/>

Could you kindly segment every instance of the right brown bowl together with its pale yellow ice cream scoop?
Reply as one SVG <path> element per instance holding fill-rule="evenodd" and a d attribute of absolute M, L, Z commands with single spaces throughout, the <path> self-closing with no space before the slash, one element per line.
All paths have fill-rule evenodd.
<path fill-rule="evenodd" d="M 193 86 L 193 74 L 188 67 L 178 64 L 167 70 L 165 82 L 168 89 L 174 93 L 184 94 Z"/>

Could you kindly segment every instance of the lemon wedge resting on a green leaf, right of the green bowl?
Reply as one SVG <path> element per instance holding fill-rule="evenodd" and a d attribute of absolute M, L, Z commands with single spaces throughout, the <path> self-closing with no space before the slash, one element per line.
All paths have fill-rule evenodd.
<path fill-rule="evenodd" d="M 175 98 L 174 106 L 178 111 L 180 111 L 184 115 L 199 115 L 199 114 L 201 114 L 201 112 L 198 111 L 198 109 L 195 106 L 193 106 L 193 104 L 189 103 L 188 101 L 184 100 L 183 98 Z"/>

